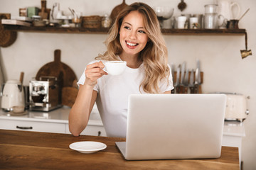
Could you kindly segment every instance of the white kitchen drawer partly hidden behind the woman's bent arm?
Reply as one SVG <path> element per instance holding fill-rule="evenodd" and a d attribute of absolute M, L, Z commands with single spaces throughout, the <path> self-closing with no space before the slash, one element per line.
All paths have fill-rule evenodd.
<path fill-rule="evenodd" d="M 66 133 L 70 133 L 68 124 L 66 124 Z M 87 125 L 80 135 L 107 136 L 105 128 L 99 125 Z"/>

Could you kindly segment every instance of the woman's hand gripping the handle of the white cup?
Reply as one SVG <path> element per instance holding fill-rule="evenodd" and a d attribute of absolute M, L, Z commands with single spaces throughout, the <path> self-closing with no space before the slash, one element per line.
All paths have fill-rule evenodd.
<path fill-rule="evenodd" d="M 104 67 L 105 65 L 102 63 L 102 61 L 87 65 L 85 70 L 85 84 L 95 86 L 95 84 L 97 84 L 97 79 L 103 75 L 107 75 L 107 73 L 103 71 Z"/>

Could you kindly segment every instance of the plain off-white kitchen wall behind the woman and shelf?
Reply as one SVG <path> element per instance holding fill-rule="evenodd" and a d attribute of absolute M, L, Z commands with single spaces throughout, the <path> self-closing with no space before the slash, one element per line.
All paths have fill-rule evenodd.
<path fill-rule="evenodd" d="M 188 69 L 196 68 L 196 60 L 201 61 L 203 76 L 203 93 L 230 92 L 250 96 L 247 108 L 250 111 L 244 121 L 246 137 L 242 140 L 242 161 L 244 169 L 256 169 L 256 1 L 235 0 L 241 7 L 241 13 L 250 11 L 239 22 L 248 35 L 248 49 L 252 55 L 242 60 L 240 50 L 245 50 L 244 35 L 164 35 L 169 50 L 169 64 L 181 64 L 186 61 Z M 110 14 L 114 6 L 122 0 L 48 0 L 47 8 L 53 3 L 60 3 L 60 10 L 71 15 L 68 7 L 82 12 L 83 16 Z M 127 0 L 132 4 L 133 0 Z M 185 0 L 187 7 L 179 11 L 180 0 L 145 0 L 150 6 L 172 6 L 174 16 L 181 13 L 204 13 L 204 5 L 213 4 L 214 0 Z M 18 8 L 37 6 L 40 0 L 1 0 L 0 13 L 18 16 Z M 168 26 L 167 23 L 165 22 Z M 29 84 L 38 69 L 53 61 L 55 49 L 61 50 L 61 61 L 68 64 L 78 79 L 88 62 L 105 51 L 106 34 L 68 34 L 68 33 L 31 33 L 18 32 L 18 38 L 9 47 L 0 47 L 0 61 L 4 78 L 19 79 L 24 72 L 23 84 Z"/>

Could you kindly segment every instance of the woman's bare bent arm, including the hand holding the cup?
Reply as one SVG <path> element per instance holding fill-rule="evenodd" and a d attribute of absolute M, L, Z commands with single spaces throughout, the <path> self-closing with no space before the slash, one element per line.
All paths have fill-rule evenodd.
<path fill-rule="evenodd" d="M 80 85 L 78 96 L 68 118 L 69 130 L 74 136 L 80 135 L 88 123 L 92 107 L 97 98 L 97 91 L 93 88 L 97 84 L 97 79 L 107 74 L 101 69 L 103 67 L 102 62 L 96 62 L 86 67 L 85 83 Z"/>

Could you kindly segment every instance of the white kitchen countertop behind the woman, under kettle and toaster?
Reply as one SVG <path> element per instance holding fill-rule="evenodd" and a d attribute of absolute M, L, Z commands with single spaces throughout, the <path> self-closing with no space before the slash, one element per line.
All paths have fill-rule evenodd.
<path fill-rule="evenodd" d="M 0 111 L 0 119 L 9 120 L 30 120 L 48 123 L 68 123 L 70 107 L 63 106 L 50 112 L 28 111 L 26 115 L 11 115 L 9 112 Z M 97 107 L 92 109 L 88 125 L 103 126 Z M 245 137 L 245 127 L 243 123 L 235 121 L 225 121 L 223 135 Z"/>

